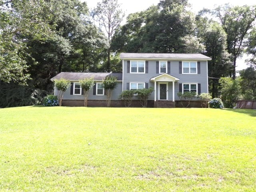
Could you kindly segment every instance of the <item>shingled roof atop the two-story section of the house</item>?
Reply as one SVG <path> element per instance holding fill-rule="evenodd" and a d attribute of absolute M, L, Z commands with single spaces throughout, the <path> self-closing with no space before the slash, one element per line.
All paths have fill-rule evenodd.
<path fill-rule="evenodd" d="M 203 54 L 188 54 L 188 53 L 121 53 L 120 58 L 166 58 L 166 59 L 205 59 L 212 60 Z"/>

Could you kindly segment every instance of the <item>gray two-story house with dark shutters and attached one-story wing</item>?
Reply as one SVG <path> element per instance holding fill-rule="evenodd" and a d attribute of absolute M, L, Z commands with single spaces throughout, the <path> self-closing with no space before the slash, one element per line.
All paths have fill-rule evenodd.
<path fill-rule="evenodd" d="M 62 72 L 51 80 L 70 80 L 64 93 L 63 104 L 83 106 L 79 80 L 93 77 L 95 84 L 90 92 L 88 106 L 106 106 L 102 81 L 106 76 L 116 76 L 118 86 L 112 92 L 112 106 L 122 106 L 119 94 L 123 90 L 153 87 L 148 98 L 149 106 L 175 106 L 178 92 L 208 93 L 208 60 L 202 54 L 121 53 L 122 73 L 72 73 Z M 56 91 L 55 91 L 56 92 Z M 136 105 L 136 97 L 134 96 Z M 137 102 L 138 104 L 138 102 Z"/>

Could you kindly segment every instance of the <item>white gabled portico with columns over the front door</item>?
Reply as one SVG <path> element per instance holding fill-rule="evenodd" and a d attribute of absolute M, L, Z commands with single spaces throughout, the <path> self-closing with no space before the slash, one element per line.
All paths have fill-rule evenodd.
<path fill-rule="evenodd" d="M 168 84 L 172 83 L 172 101 L 174 102 L 174 82 L 180 80 L 174 76 L 163 73 L 150 79 L 154 82 L 154 101 L 156 101 L 156 82 L 158 82 L 158 100 L 168 100 Z"/>

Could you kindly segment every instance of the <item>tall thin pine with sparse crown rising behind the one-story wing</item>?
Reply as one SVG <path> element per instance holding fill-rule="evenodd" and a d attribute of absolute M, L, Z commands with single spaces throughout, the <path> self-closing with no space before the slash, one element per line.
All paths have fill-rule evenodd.
<path fill-rule="evenodd" d="M 120 23 L 124 18 L 124 13 L 122 13 L 118 0 L 102 0 L 102 2 L 98 2 L 97 7 L 92 10 L 92 17 L 96 18 L 96 21 L 104 28 L 110 44 L 116 28 L 120 26 Z M 108 48 L 106 70 L 108 72 L 110 71 L 110 46 Z"/>

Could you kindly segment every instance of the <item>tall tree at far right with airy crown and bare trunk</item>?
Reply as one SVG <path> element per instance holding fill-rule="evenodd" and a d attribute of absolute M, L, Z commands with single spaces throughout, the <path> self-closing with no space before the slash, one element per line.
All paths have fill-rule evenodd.
<path fill-rule="evenodd" d="M 230 77 L 236 77 L 236 60 L 242 56 L 247 42 L 249 31 L 252 29 L 256 18 L 256 6 L 218 6 L 214 15 L 220 20 L 227 34 L 228 52 L 232 54 L 233 68 Z"/>

